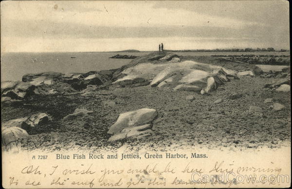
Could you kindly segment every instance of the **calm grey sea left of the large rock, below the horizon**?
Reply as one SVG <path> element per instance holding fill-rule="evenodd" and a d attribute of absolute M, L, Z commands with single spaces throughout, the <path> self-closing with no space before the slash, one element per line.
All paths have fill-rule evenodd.
<path fill-rule="evenodd" d="M 131 59 L 110 59 L 116 54 L 142 56 L 148 52 L 50 52 L 5 53 L 1 55 L 1 81 L 21 80 L 28 73 L 55 71 L 86 73 L 119 68 Z M 76 57 L 76 58 L 71 58 Z"/>

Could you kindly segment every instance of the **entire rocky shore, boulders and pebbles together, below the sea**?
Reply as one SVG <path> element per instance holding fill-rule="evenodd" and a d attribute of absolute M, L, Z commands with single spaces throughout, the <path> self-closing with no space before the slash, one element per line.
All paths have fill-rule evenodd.
<path fill-rule="evenodd" d="M 290 69 L 271 74 L 255 65 L 223 58 L 182 57 L 173 53 L 151 53 L 113 70 L 27 74 L 22 81 L 1 82 L 2 148 L 18 151 L 20 147 L 29 150 L 55 146 L 52 149 L 61 149 L 68 142 L 60 137 L 69 134 L 72 134 L 72 139 L 68 139 L 71 147 L 116 148 L 125 142 L 134 147 L 138 141 L 149 143 L 149 140 L 158 145 L 158 141 L 183 131 L 188 144 L 214 146 L 211 141 L 201 142 L 205 134 L 204 137 L 189 135 L 189 129 L 194 132 L 201 129 L 201 133 L 209 135 L 214 129 L 222 130 L 225 134 L 210 135 L 214 140 L 221 138 L 222 146 L 258 148 L 271 142 L 270 147 L 275 147 L 275 139 L 269 139 L 274 133 L 266 133 L 262 142 L 249 142 L 245 135 L 232 131 L 236 125 L 243 128 L 248 124 L 252 130 L 246 128 L 245 132 L 250 136 L 256 131 L 264 132 L 268 122 L 280 123 L 278 130 L 288 129 L 291 124 Z M 230 112 L 230 106 L 234 108 L 235 104 L 244 106 L 241 110 L 246 111 L 236 109 L 235 113 L 232 109 Z M 189 112 L 193 106 L 205 114 L 196 110 Z M 241 116 L 253 119 L 243 121 L 239 119 Z M 220 124 L 214 125 L 214 119 Z M 228 126 L 223 124 L 224 120 L 230 122 Z M 112 132 L 112 127 L 119 129 Z M 283 134 L 276 134 L 277 141 L 291 139 L 290 132 Z M 77 135 L 81 135 L 78 140 Z M 88 141 L 92 139 L 98 142 Z"/>

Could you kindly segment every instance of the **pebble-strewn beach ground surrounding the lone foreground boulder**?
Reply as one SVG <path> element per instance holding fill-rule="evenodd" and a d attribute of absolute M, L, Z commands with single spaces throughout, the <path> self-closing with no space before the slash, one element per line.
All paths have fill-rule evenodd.
<path fill-rule="evenodd" d="M 52 115 L 52 123 L 28 131 L 30 137 L 22 141 L 25 150 L 99 151 L 127 145 L 130 150 L 137 151 L 141 148 L 168 151 L 194 147 L 237 151 L 289 146 L 290 93 L 264 89 L 264 84 L 272 80 L 259 77 L 231 80 L 208 96 L 150 86 L 96 91 L 86 97 L 79 94 L 36 96 L 10 105 L 3 103 L 1 122 L 37 112 Z M 243 96 L 228 99 L 234 92 Z M 185 99 L 190 94 L 195 96 L 192 102 Z M 271 104 L 264 103 L 269 97 L 276 98 L 285 108 L 276 112 L 270 110 Z M 214 104 L 218 98 L 224 101 Z M 264 115 L 258 117 L 249 113 L 250 106 L 261 107 Z M 76 108 L 86 108 L 94 113 L 63 122 L 62 118 Z M 108 142 L 108 128 L 119 114 L 140 108 L 158 111 L 158 117 L 153 122 L 155 134 L 140 141 Z"/>

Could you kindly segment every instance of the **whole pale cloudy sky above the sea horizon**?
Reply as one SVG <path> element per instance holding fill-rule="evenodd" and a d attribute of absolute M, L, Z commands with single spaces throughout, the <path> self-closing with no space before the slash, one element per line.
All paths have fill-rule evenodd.
<path fill-rule="evenodd" d="M 289 2 L 1 1 L 1 52 L 289 49 Z"/>

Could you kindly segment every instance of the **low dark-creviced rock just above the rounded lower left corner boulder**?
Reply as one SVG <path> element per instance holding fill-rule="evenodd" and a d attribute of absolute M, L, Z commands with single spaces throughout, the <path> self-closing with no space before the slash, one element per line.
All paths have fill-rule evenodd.
<path fill-rule="evenodd" d="M 28 130 L 31 127 L 40 126 L 51 121 L 51 117 L 46 113 L 37 113 L 31 116 L 9 120 L 2 124 L 3 128 L 19 127 Z"/>

